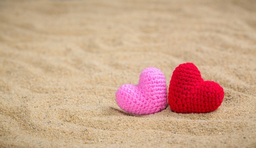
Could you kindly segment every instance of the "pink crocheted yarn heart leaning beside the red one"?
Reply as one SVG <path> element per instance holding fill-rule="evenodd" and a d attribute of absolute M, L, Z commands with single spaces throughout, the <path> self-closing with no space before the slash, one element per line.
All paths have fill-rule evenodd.
<path fill-rule="evenodd" d="M 164 74 L 155 67 L 148 67 L 139 76 L 139 84 L 126 84 L 116 92 L 118 106 L 126 112 L 147 115 L 166 108 L 167 87 Z"/>

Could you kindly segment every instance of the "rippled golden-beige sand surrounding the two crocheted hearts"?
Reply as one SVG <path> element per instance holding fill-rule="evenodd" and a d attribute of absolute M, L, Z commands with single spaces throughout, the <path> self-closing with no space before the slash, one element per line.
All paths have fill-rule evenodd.
<path fill-rule="evenodd" d="M 194 63 L 211 113 L 122 111 L 115 92 Z M 1 0 L 0 147 L 256 147 L 255 0 Z"/>

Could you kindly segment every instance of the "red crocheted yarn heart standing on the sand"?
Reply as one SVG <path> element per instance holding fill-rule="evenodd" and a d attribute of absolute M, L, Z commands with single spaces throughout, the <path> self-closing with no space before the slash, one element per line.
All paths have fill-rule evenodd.
<path fill-rule="evenodd" d="M 193 63 L 180 64 L 173 71 L 168 103 L 177 113 L 208 113 L 216 110 L 224 98 L 223 88 L 204 81 Z"/>

